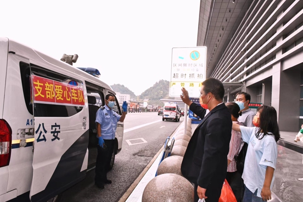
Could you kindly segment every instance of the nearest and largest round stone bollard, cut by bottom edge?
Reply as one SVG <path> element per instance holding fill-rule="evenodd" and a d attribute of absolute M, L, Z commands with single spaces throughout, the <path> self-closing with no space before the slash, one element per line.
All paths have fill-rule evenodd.
<path fill-rule="evenodd" d="M 193 201 L 193 186 L 184 177 L 166 173 L 151 179 L 146 185 L 142 202 Z"/>

